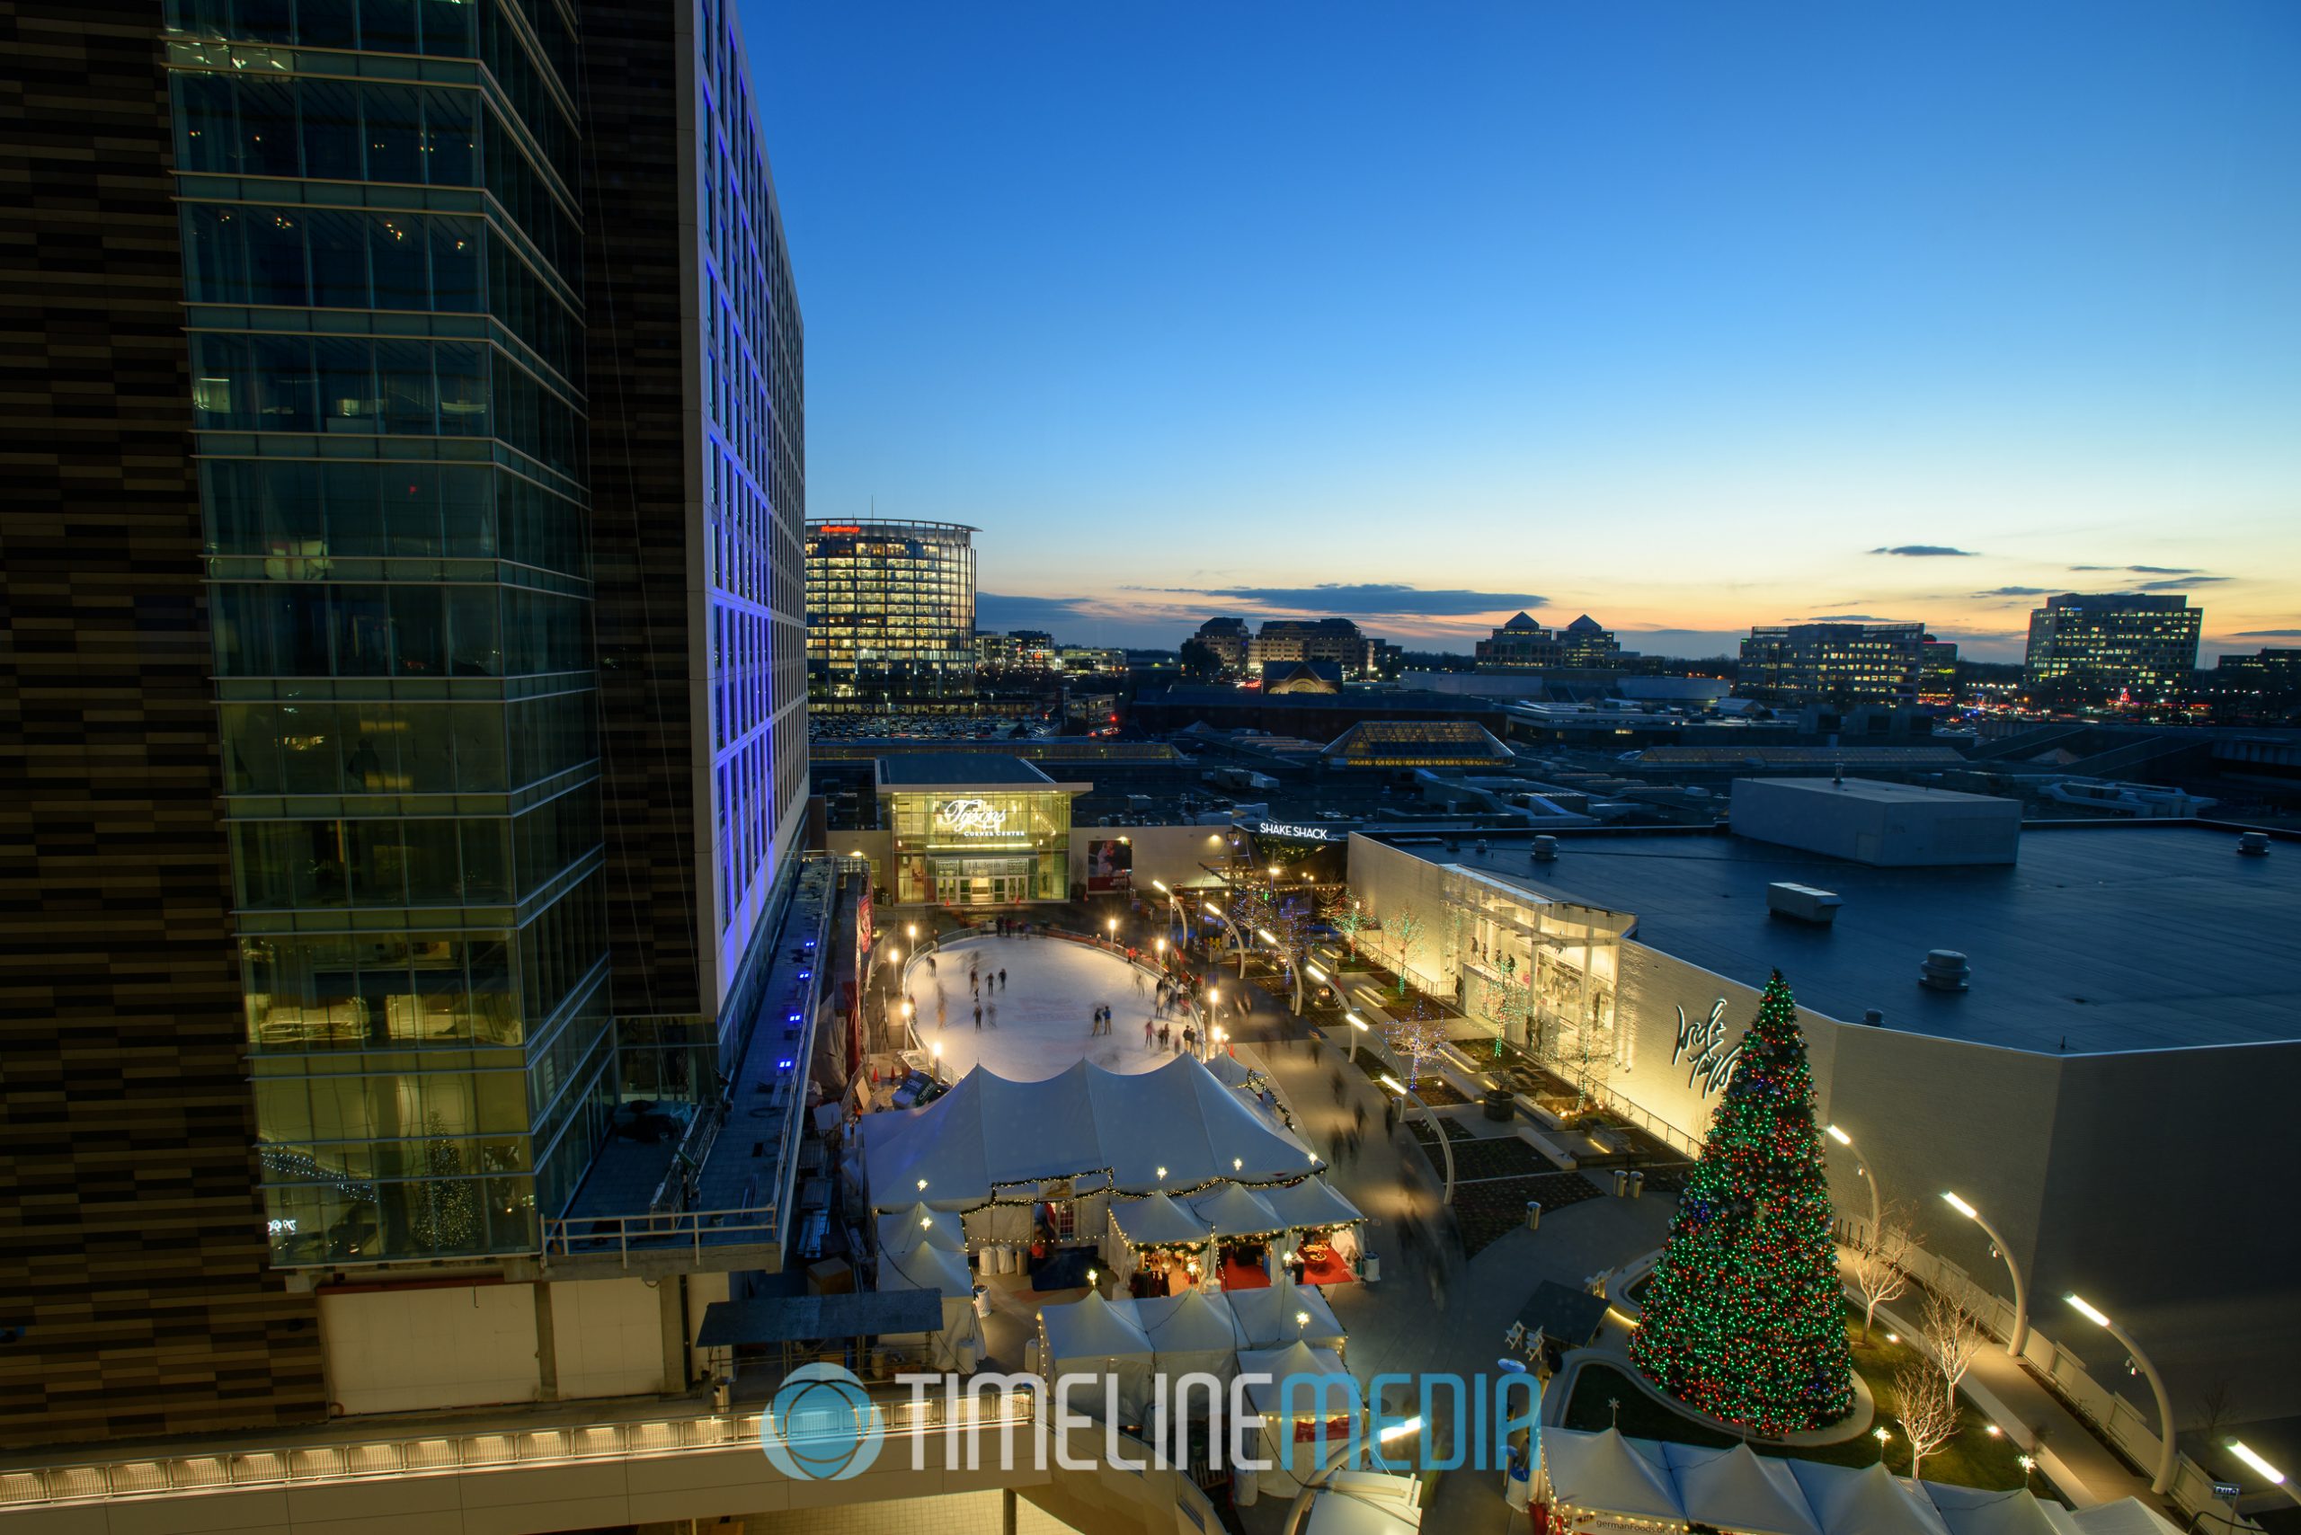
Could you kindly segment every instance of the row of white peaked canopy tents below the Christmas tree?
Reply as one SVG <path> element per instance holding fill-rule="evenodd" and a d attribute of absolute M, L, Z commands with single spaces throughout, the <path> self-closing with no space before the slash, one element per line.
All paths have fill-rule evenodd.
<path fill-rule="evenodd" d="M 1774 1459 L 1749 1445 L 1710 1450 L 1618 1429 L 1542 1429 L 1535 1496 L 1551 1505 L 1553 1528 L 1572 1535 L 1680 1533 L 1694 1523 L 1728 1535 L 2145 1535 L 2112 1521 L 2076 1526 L 2025 1489 L 1908 1482 L 1878 1464 Z"/>

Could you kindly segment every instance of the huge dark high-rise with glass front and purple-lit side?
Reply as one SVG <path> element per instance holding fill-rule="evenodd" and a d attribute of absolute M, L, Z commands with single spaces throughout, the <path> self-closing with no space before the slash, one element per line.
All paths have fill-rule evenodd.
<path fill-rule="evenodd" d="M 41 914 L 0 1441 L 373 1408 L 313 1284 L 532 1273 L 619 1105 L 709 1118 L 792 904 L 803 359 L 741 39 L 723 0 L 12 18 L 58 48 L 0 214 L 51 444 L 0 562 Z"/>

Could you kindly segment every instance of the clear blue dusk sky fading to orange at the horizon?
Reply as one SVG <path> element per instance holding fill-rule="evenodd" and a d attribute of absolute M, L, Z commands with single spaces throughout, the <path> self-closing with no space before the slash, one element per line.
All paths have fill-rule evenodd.
<path fill-rule="evenodd" d="M 808 511 L 978 525 L 985 626 L 2301 637 L 2292 0 L 743 23 Z"/>

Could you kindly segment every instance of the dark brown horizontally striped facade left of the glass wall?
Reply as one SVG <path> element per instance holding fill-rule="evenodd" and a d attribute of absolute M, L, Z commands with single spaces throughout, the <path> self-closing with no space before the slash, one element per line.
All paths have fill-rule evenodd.
<path fill-rule="evenodd" d="M 327 1411 L 267 1268 L 154 18 L 0 5 L 0 1445 Z"/>

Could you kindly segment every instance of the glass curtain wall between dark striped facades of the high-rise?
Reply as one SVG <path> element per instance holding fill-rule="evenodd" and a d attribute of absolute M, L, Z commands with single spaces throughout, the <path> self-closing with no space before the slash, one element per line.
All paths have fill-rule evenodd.
<path fill-rule="evenodd" d="M 612 1056 L 575 18 L 166 25 L 274 1261 L 532 1252 Z"/>

